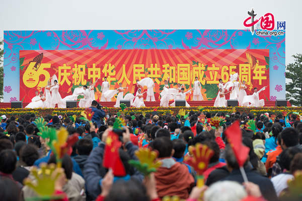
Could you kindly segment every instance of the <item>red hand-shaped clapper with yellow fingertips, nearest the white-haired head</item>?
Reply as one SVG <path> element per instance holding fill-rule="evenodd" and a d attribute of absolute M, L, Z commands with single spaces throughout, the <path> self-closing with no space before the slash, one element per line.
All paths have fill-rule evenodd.
<path fill-rule="evenodd" d="M 206 145 L 197 143 L 195 147 L 189 147 L 189 153 L 192 157 L 186 157 L 185 162 L 191 165 L 197 173 L 197 186 L 202 187 L 203 172 L 207 169 L 210 158 L 213 156 L 214 151 L 208 148 Z"/>

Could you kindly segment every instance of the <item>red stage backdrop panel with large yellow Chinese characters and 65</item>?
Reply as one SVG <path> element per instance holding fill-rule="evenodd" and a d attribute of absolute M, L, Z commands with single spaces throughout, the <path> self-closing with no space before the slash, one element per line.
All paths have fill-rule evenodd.
<path fill-rule="evenodd" d="M 134 91 L 136 79 L 150 77 L 156 83 L 154 90 L 158 100 L 168 77 L 171 86 L 181 83 L 189 89 L 197 76 L 202 84 L 203 98 L 212 100 L 217 95 L 218 79 L 225 83 L 235 72 L 246 81 L 248 94 L 254 87 L 268 86 L 268 62 L 269 50 L 20 50 L 20 99 L 30 102 L 35 91 L 44 91 L 47 80 L 55 74 L 62 98 L 70 95 L 73 88 L 100 78 L 95 89 L 99 100 L 106 76 L 111 83 L 110 89 L 117 88 L 122 82 L 130 93 Z M 260 93 L 260 98 L 268 100 L 269 87 Z"/>

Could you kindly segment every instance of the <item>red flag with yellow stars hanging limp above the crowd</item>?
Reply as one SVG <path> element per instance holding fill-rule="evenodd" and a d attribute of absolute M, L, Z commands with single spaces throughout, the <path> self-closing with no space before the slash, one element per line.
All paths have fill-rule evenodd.
<path fill-rule="evenodd" d="M 111 168 L 115 176 L 125 176 L 126 171 L 124 165 L 119 157 L 119 148 L 122 143 L 118 139 L 118 135 L 113 131 L 109 132 L 106 139 L 106 146 L 104 152 L 103 166 Z"/>

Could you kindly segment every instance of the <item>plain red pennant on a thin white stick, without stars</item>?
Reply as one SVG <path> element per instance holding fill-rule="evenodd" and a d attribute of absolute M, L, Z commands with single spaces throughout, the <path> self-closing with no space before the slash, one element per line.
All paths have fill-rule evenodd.
<path fill-rule="evenodd" d="M 225 135 L 229 139 L 239 167 L 243 167 L 249 155 L 250 148 L 242 144 L 242 134 L 239 122 L 234 122 L 228 129 L 226 129 Z"/>

